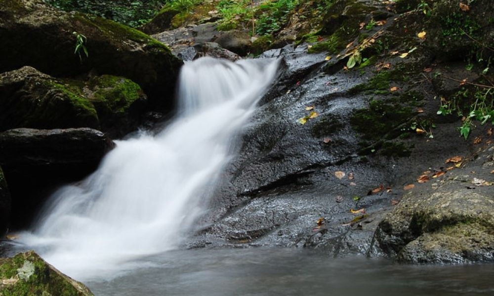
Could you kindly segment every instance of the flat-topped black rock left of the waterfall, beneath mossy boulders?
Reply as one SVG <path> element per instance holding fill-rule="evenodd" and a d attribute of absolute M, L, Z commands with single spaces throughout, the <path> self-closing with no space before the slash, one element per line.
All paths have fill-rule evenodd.
<path fill-rule="evenodd" d="M 12 195 L 12 227 L 28 224 L 50 190 L 81 180 L 113 147 L 102 132 L 90 128 L 0 133 L 0 165 Z"/>

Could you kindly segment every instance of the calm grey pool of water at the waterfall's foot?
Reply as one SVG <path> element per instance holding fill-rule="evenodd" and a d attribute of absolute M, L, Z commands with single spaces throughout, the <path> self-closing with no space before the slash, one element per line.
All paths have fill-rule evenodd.
<path fill-rule="evenodd" d="M 293 249 L 182 250 L 85 284 L 96 296 L 494 295 L 494 264 L 401 265 Z"/>

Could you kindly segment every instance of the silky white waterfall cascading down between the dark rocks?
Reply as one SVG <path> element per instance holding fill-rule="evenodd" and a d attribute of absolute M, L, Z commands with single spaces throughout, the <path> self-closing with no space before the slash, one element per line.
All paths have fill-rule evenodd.
<path fill-rule="evenodd" d="M 111 277 L 174 249 L 207 197 L 277 69 L 276 61 L 202 58 L 180 74 L 177 116 L 162 132 L 119 141 L 99 169 L 58 190 L 20 241 L 77 279 Z"/>

